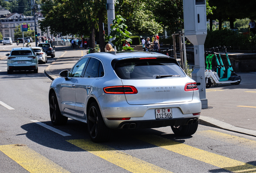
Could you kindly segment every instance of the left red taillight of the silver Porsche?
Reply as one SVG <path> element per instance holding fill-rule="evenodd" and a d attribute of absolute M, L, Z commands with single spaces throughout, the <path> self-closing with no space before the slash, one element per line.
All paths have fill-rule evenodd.
<path fill-rule="evenodd" d="M 107 94 L 137 94 L 138 91 L 133 86 L 113 86 L 103 88 L 104 93 Z"/>

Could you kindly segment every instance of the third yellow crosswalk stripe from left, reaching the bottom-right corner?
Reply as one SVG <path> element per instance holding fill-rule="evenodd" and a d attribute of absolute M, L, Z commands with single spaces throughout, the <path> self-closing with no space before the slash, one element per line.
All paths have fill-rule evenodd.
<path fill-rule="evenodd" d="M 139 136 L 136 138 L 142 141 L 145 141 L 147 143 L 156 145 L 158 147 L 167 149 L 169 151 L 179 153 L 181 155 L 190 157 L 192 159 L 209 163 L 211 165 L 214 165 L 235 173 L 247 172 L 247 171 L 249 171 L 250 173 L 256 172 L 256 166 L 254 165 L 243 163 L 241 161 L 236 161 L 228 157 L 217 155 L 215 153 L 210 153 L 208 151 L 197 149 L 195 147 L 191 147 L 189 145 L 178 143 L 176 141 L 171 141 L 169 139 L 165 139 L 155 135 Z"/>

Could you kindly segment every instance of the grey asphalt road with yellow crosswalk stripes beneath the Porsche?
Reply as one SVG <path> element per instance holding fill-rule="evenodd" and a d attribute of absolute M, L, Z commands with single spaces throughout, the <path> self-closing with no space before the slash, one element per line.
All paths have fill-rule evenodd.
<path fill-rule="evenodd" d="M 0 173 L 256 172 L 256 137 L 213 127 L 199 125 L 190 137 L 177 137 L 170 127 L 114 131 L 109 142 L 99 144 L 90 141 L 84 123 L 69 120 L 54 127 L 48 104 L 51 80 L 43 71 L 60 56 L 81 56 L 81 50 L 56 51 L 56 58 L 39 64 L 37 74 L 7 74 L 4 53 Z"/>

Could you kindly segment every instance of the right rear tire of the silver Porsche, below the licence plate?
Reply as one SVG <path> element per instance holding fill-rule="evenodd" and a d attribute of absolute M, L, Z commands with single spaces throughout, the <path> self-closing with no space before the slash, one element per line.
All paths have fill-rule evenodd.
<path fill-rule="evenodd" d="M 175 135 L 190 136 L 196 133 L 197 127 L 198 127 L 198 121 L 190 125 L 171 126 L 171 129 Z"/>

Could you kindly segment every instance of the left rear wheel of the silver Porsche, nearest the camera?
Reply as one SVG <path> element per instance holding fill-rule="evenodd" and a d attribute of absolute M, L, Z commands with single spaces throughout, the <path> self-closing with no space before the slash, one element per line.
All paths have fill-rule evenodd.
<path fill-rule="evenodd" d="M 102 118 L 101 111 L 96 102 L 91 103 L 87 113 L 87 127 L 90 138 L 93 142 L 106 142 L 111 135 Z"/>

